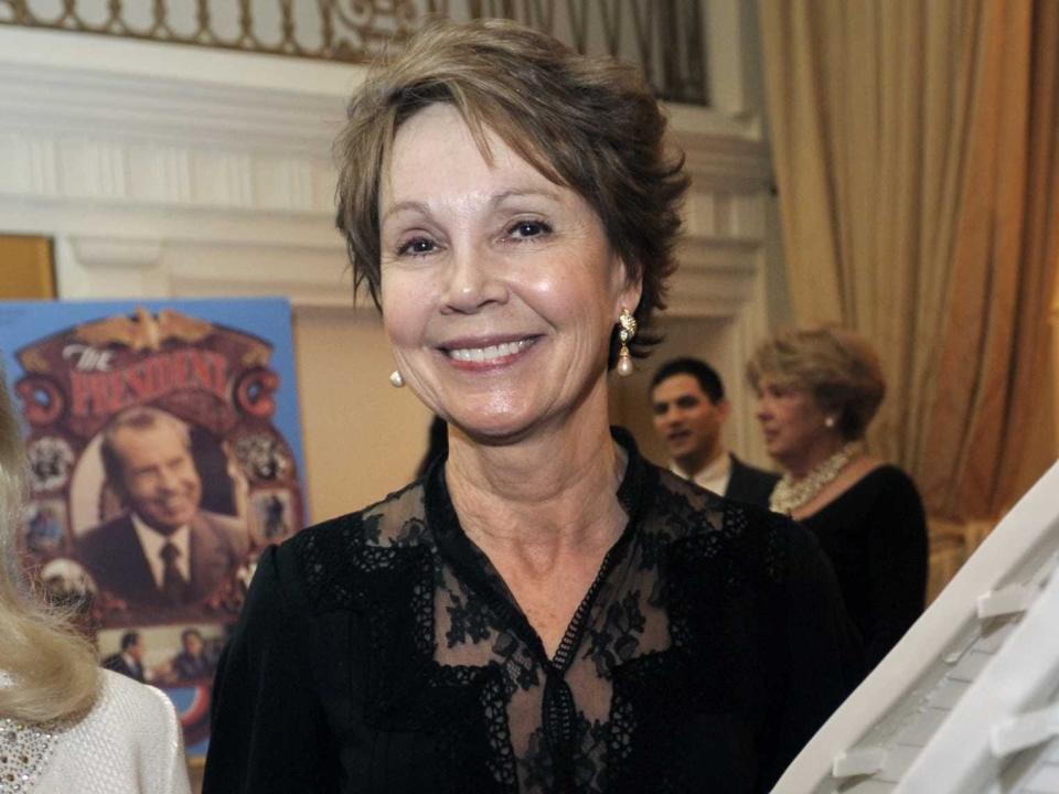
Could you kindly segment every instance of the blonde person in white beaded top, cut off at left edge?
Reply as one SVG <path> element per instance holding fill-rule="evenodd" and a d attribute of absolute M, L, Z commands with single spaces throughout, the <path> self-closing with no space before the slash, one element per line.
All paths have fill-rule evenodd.
<path fill-rule="evenodd" d="M 169 699 L 100 670 L 90 645 L 20 581 L 14 536 L 24 471 L 0 372 L 0 792 L 190 792 Z"/>

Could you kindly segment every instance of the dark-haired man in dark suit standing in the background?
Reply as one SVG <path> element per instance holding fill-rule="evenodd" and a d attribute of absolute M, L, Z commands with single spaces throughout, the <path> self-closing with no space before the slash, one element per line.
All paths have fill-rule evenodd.
<path fill-rule="evenodd" d="M 674 473 L 728 498 L 769 506 L 780 476 L 749 466 L 725 449 L 720 430 L 730 406 L 712 366 L 691 357 L 663 364 L 651 378 L 651 408 Z"/>

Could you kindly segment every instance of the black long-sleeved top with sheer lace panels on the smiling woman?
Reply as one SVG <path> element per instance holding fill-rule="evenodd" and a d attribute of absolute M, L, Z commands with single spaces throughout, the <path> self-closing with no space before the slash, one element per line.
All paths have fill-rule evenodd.
<path fill-rule="evenodd" d="M 205 794 L 764 792 L 859 655 L 787 518 L 644 461 L 563 639 L 460 528 L 443 463 L 260 560 L 214 689 Z"/>

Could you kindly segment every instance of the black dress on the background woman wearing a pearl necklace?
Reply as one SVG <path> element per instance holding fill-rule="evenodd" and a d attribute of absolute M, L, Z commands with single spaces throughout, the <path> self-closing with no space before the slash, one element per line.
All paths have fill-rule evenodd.
<path fill-rule="evenodd" d="M 927 518 L 900 469 L 868 472 L 802 524 L 831 558 L 870 672 L 923 612 Z"/>

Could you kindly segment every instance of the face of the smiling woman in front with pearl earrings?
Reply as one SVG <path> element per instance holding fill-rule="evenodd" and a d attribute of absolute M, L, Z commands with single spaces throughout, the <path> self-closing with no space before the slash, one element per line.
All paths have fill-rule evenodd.
<path fill-rule="evenodd" d="M 486 132 L 432 105 L 394 140 L 379 190 L 383 321 L 405 382 L 464 431 L 510 438 L 606 415 L 607 354 L 635 309 L 602 224 Z"/>

